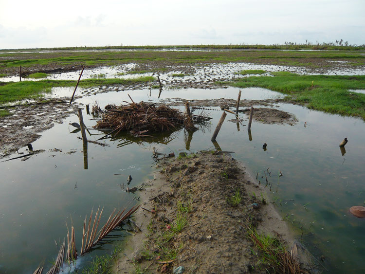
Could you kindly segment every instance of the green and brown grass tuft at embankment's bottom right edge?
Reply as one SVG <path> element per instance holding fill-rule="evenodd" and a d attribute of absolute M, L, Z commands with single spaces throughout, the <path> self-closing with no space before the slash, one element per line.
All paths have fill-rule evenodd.
<path fill-rule="evenodd" d="M 259 251 L 256 254 L 259 258 L 259 264 L 268 273 L 290 273 L 299 274 L 299 262 L 295 260 L 288 251 L 286 251 L 283 244 L 276 238 L 264 234 L 257 233 L 252 225 L 246 227 L 247 235 L 255 244 Z"/>

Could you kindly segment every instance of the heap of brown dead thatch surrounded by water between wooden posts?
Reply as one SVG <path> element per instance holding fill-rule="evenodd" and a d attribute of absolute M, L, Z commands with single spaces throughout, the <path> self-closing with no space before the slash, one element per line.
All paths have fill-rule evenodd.
<path fill-rule="evenodd" d="M 164 132 L 183 128 L 186 114 L 166 105 L 133 103 L 124 106 L 107 105 L 94 128 L 112 129 L 116 133 L 127 131 L 135 136 L 146 136 L 146 133 Z M 194 116 L 194 122 L 206 121 L 204 115 Z"/>

